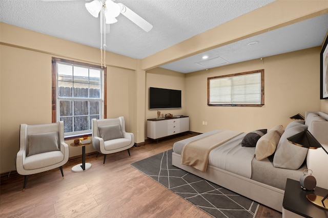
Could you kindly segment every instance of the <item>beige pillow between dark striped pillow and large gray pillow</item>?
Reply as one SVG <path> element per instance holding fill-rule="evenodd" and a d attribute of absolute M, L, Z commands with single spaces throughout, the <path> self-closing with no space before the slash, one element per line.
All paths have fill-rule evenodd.
<path fill-rule="evenodd" d="M 256 143 L 256 160 L 263 160 L 275 153 L 279 139 L 280 133 L 276 130 L 263 135 Z"/>

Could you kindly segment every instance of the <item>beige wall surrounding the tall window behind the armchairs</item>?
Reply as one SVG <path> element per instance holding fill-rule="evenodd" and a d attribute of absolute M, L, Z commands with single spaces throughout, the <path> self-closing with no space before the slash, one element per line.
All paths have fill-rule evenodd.
<path fill-rule="evenodd" d="M 51 123 L 51 58 L 99 64 L 98 49 L 1 24 L 0 44 L 0 173 L 15 170 L 19 150 L 19 125 Z M 10 34 L 19 38 L 13 40 Z M 30 41 L 47 41 L 51 46 Z M 54 44 L 58 43 L 58 46 Z M 42 44 L 42 43 L 41 43 Z M 61 45 L 64 44 L 65 46 Z M 94 56 L 90 55 L 93 54 Z M 78 57 L 78 59 L 75 59 Z M 107 117 L 124 116 L 126 130 L 135 133 L 135 69 L 137 60 L 107 53 Z M 100 65 L 100 64 L 99 64 Z M 144 137 L 139 139 L 144 141 Z M 72 140 L 66 141 L 68 144 Z M 70 147 L 70 157 L 81 155 Z M 87 147 L 86 152 L 93 152 Z"/>

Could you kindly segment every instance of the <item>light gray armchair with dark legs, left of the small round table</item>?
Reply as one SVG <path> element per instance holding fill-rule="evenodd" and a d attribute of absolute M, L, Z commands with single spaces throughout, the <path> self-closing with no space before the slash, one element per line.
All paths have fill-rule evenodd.
<path fill-rule="evenodd" d="M 25 176 L 59 167 L 64 179 L 63 165 L 68 161 L 69 149 L 64 142 L 64 122 L 52 124 L 20 124 L 19 151 L 16 155 L 16 171 Z"/>

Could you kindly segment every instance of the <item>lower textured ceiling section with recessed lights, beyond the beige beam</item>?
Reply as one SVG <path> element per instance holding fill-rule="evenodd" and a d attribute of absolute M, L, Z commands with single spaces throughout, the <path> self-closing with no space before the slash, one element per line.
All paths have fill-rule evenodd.
<path fill-rule="evenodd" d="M 232 44 L 224 45 L 217 49 L 181 59 L 161 67 L 188 73 L 302 49 L 309 49 L 310 47 L 320 46 L 327 31 L 328 14 L 324 14 Z M 253 41 L 258 43 L 248 45 Z M 202 59 L 203 56 L 209 57 L 206 61 L 213 61 L 210 62 L 209 65 L 199 64 L 199 61 L 201 61 L 200 63 L 204 61 Z"/>

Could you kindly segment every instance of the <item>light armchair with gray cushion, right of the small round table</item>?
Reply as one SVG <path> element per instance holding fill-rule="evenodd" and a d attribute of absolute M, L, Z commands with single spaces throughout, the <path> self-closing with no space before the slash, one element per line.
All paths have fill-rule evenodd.
<path fill-rule="evenodd" d="M 125 131 L 123 116 L 110 119 L 92 119 L 92 145 L 101 154 L 106 155 L 128 150 L 134 145 L 134 134 Z M 97 153 L 97 156 L 98 156 Z"/>

